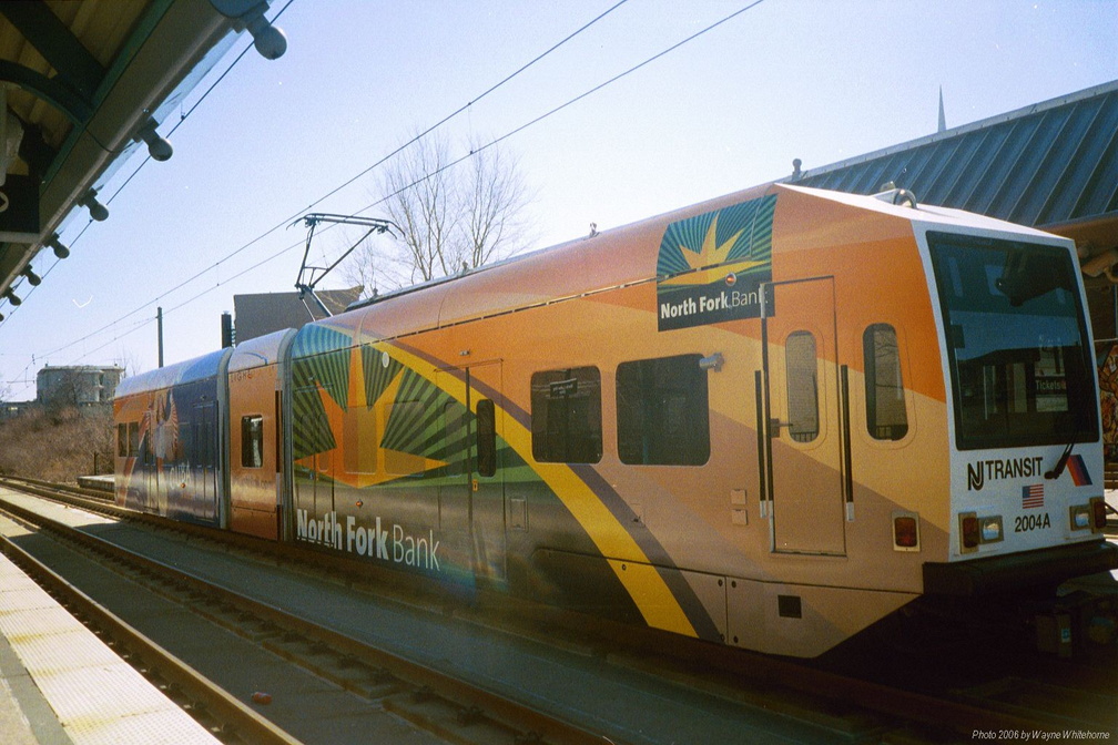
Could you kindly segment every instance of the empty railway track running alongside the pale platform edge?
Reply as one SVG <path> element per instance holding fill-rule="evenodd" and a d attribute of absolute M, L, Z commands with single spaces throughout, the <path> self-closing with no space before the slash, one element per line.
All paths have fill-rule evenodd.
<path fill-rule="evenodd" d="M 46 490 L 41 484 L 35 488 L 37 491 Z M 64 497 L 68 503 L 76 500 L 72 495 L 57 496 Z M 102 512 L 115 512 L 115 508 L 105 506 L 100 508 Z M 171 636 L 189 634 L 196 642 L 207 638 L 212 641 L 205 646 L 221 650 L 224 657 L 250 660 L 264 652 L 265 657 L 273 656 L 280 660 L 288 671 L 303 670 L 310 678 L 301 681 L 297 688 L 323 697 L 329 694 L 321 690 L 322 681 L 334 687 L 332 695 L 341 700 L 326 705 L 326 709 L 344 710 L 347 706 L 353 707 L 354 697 L 377 701 L 379 706 L 364 707 L 369 715 L 363 718 L 369 722 L 356 726 L 362 717 L 349 717 L 353 726 L 348 728 L 358 735 L 353 742 L 366 742 L 361 733 L 367 734 L 369 727 L 375 732 L 390 732 L 387 742 L 394 742 L 401 734 L 414 739 L 414 735 L 401 733 L 399 724 L 386 725 L 382 720 L 386 713 L 405 720 L 411 719 L 421 725 L 421 730 L 436 736 L 420 742 L 443 742 L 444 738 L 477 743 L 601 742 L 568 723 L 549 720 L 538 711 L 517 707 L 509 701 L 493 700 L 484 690 L 467 682 L 385 650 L 370 648 L 274 605 L 253 601 L 111 541 L 74 529 L 63 522 L 51 520 L 31 509 L 6 500 L 3 510 L 15 515 L 25 526 L 40 529 L 30 537 L 42 538 L 44 533 L 49 532 L 48 541 L 57 543 L 48 546 L 44 545 L 48 541 L 38 541 L 36 543 L 40 545 L 35 546 L 36 553 L 49 555 L 47 561 L 77 579 L 73 582 L 63 580 L 47 566 L 46 561 L 36 560 L 31 551 L 20 548 L 9 538 L 4 538 L 6 553 L 13 554 L 25 571 L 41 579 L 58 595 L 65 598 L 68 605 L 78 608 L 80 615 L 89 619 L 102 633 L 120 640 L 127 649 L 139 649 L 136 653 L 142 658 L 144 669 L 157 670 L 155 675 L 165 679 L 169 687 L 184 691 L 190 708 L 203 713 L 201 720 L 205 724 L 214 729 L 230 732 L 229 742 L 291 744 L 344 739 L 340 737 L 343 733 L 316 732 L 307 727 L 302 730 L 292 728 L 296 733 L 294 737 L 286 734 L 281 727 L 286 728 L 290 723 L 281 719 L 271 724 L 262 716 L 271 714 L 263 707 L 272 705 L 281 696 L 281 691 L 273 694 L 267 689 L 254 690 L 245 698 L 255 704 L 259 711 L 245 706 L 177 660 L 173 655 L 167 653 L 159 644 L 145 641 L 144 634 L 86 596 L 75 584 L 100 584 L 98 594 L 130 596 L 130 604 L 145 608 L 148 617 L 176 614 L 189 619 L 188 622 L 167 629 L 164 641 L 173 643 L 173 640 L 165 638 L 168 632 Z M 31 541 L 25 537 L 22 543 Z M 111 565 L 116 577 L 104 576 L 104 565 Z M 88 576 L 91 569 L 101 570 L 97 573 L 102 576 Z M 138 600 L 141 595 L 143 600 Z M 359 700 L 358 705 L 360 703 Z M 489 714 L 483 715 L 483 710 Z M 494 719 L 493 713 L 500 713 L 502 720 Z M 524 725 L 527 729 L 520 732 L 512 728 L 510 723 L 513 722 Z M 468 732 L 459 734 L 457 729 Z"/>

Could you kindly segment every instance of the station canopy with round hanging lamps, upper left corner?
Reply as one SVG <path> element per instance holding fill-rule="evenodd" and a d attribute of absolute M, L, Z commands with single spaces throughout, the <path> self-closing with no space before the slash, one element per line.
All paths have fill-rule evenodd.
<path fill-rule="evenodd" d="M 69 219 L 105 219 L 97 192 L 136 147 L 171 155 L 157 127 L 248 30 L 274 59 L 286 40 L 263 0 L 0 2 L 0 314 L 68 255 Z"/>

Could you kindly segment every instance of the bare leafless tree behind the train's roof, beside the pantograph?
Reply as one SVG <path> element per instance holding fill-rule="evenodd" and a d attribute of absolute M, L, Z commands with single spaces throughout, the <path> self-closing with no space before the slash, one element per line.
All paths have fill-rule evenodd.
<path fill-rule="evenodd" d="M 359 246 L 344 265 L 348 281 L 370 293 L 378 280 L 397 286 L 427 281 L 523 248 L 528 238 L 521 213 L 531 194 L 517 159 L 499 145 L 470 152 L 456 162 L 448 140 L 429 135 L 386 169 L 383 209 L 402 236 L 395 250 L 379 238 Z"/>

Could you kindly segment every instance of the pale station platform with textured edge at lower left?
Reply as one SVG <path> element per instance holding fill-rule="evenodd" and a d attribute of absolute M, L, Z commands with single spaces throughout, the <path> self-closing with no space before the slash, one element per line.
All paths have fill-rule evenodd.
<path fill-rule="evenodd" d="M 215 745 L 216 739 L 0 554 L 4 745 Z"/>

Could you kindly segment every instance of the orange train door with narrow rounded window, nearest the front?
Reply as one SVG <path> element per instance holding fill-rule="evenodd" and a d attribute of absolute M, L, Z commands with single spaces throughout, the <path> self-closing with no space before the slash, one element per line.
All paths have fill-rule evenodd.
<path fill-rule="evenodd" d="M 843 555 L 843 437 L 834 278 L 764 287 L 761 321 L 770 545 Z"/>

